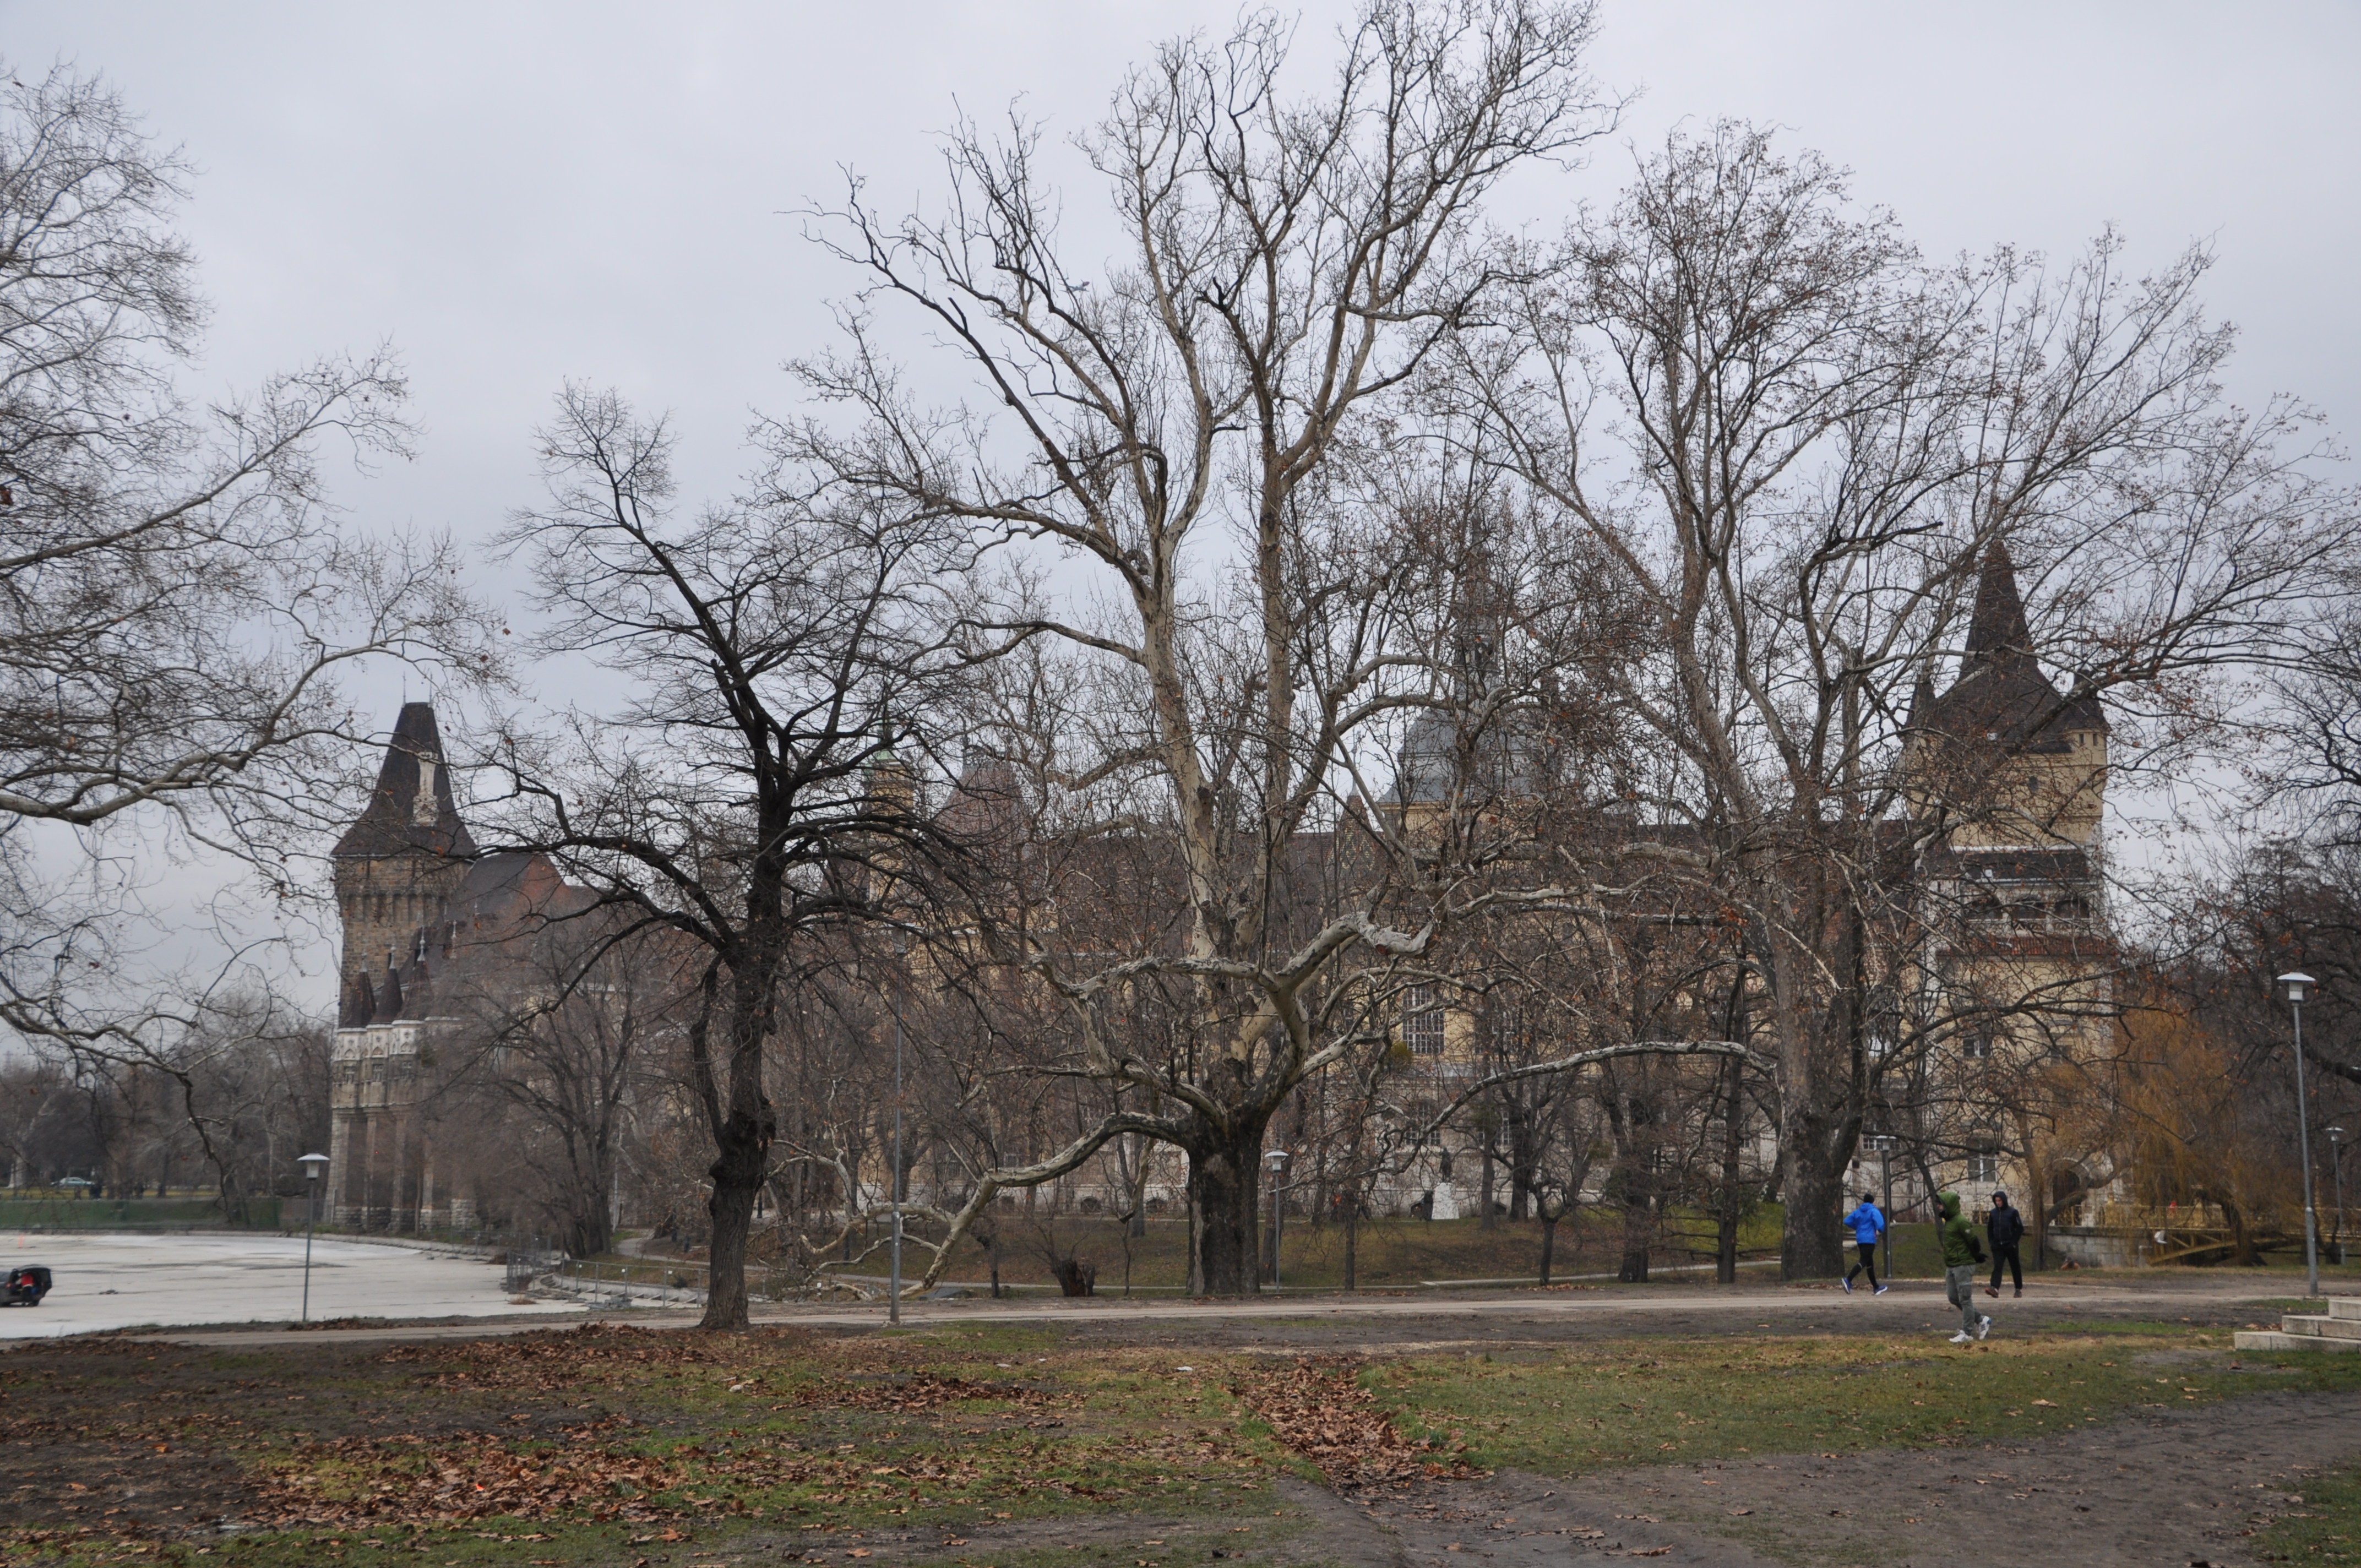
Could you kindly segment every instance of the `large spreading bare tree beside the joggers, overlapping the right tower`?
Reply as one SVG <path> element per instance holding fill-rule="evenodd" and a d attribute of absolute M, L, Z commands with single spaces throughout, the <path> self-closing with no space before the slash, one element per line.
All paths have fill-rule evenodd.
<path fill-rule="evenodd" d="M 1790 1275 L 1839 1268 L 1837 1183 L 1875 1077 L 1908 1060 L 1870 1046 L 1919 942 L 1922 855 L 1995 810 L 1912 801 L 1905 746 L 1990 553 L 2030 574 L 2016 656 L 2064 687 L 1983 737 L 2007 741 L 1997 777 L 2101 697 L 2115 770 L 2184 756 L 2217 716 L 2208 671 L 2288 656 L 2352 545 L 2307 416 L 2224 404 L 2205 262 L 2125 279 L 2108 236 L 2056 269 L 1934 269 L 1837 170 L 1724 125 L 1577 224 L 1511 328 L 1457 340 L 1466 418 L 1646 607 L 1624 704 L 1681 770 L 1620 852 L 1745 919 Z M 1905 1023 L 1919 1046 L 1950 1027 Z"/>

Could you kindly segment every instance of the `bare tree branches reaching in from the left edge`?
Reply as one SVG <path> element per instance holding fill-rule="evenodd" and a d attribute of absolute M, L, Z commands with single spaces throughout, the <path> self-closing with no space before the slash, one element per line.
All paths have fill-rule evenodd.
<path fill-rule="evenodd" d="M 177 387 L 205 316 L 187 177 L 94 78 L 0 85 L 0 1023 L 83 1063 L 161 1067 L 227 994 L 137 975 L 168 850 L 305 895 L 361 739 L 342 666 L 491 668 L 449 548 L 359 541 L 323 501 L 331 439 L 406 453 L 392 354 L 203 409 Z"/>

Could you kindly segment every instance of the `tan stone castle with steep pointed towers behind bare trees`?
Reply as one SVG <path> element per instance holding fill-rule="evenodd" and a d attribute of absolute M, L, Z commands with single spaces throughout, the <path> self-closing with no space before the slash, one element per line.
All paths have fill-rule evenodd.
<path fill-rule="evenodd" d="M 1487 647 L 1487 638 L 1476 640 L 1471 680 L 1483 678 Z M 1440 716 L 1405 739 L 1388 803 L 1405 819 L 1440 810 L 1452 779 L 1471 767 L 1487 775 L 1499 801 L 1537 791 L 1546 772 L 1542 749 L 1513 734 L 1461 756 Z M 1908 1093 L 1889 1093 L 1865 1112 L 1865 1133 L 1891 1133 L 1903 1145 L 1903 1204 L 1924 1197 L 1927 1183 L 1957 1188 L 1981 1207 L 1995 1188 L 2056 1200 L 2061 1169 L 2087 1190 L 2113 1178 L 2104 1150 L 2059 1143 L 2054 1108 L 2026 1093 L 2045 1063 L 2094 1056 L 2111 1027 L 2106 746 L 2099 704 L 2061 694 L 2042 673 L 2014 564 L 1993 548 L 1979 569 L 1955 678 L 1943 692 L 1919 680 L 1903 725 L 1905 810 L 1879 827 L 1894 843 L 1919 845 L 1908 874 L 1910 935 L 1886 942 L 1898 956 L 1884 987 L 1908 994 L 1903 1011 L 1915 1015 L 1917 1039 L 1934 1041 L 1915 1053 Z M 963 779 L 944 810 L 1018 810 L 1013 798 L 1013 784 Z M 1327 852 L 1336 848 L 1325 841 L 1299 845 L 1308 867 Z M 467 1023 L 482 1023 L 486 999 L 508 1006 L 524 994 L 519 987 L 545 982 L 522 961 L 522 947 L 593 900 L 536 855 L 479 852 L 453 801 L 434 711 L 423 701 L 401 708 L 375 791 L 335 845 L 335 893 L 345 949 L 331 1079 L 333 1219 L 368 1230 L 465 1228 L 482 1216 L 472 1190 L 482 1150 L 465 1148 L 453 1096 L 437 1096 L 451 1067 L 439 1053 L 467 1048 Z M 1535 940 L 1563 947 L 1570 937 Z M 1478 1006 L 1424 985 L 1398 1006 L 1405 1072 L 1391 1093 L 1412 1115 L 1431 1115 L 1473 1082 L 1490 1060 L 1487 1041 L 1535 1027 L 1497 999 Z M 1702 1008 L 1693 1011 L 1698 1018 L 1686 1023 L 1714 1027 Z M 1742 1150 L 1740 1138 L 1731 1148 L 1750 1181 L 1768 1176 L 1768 1122 L 1735 1115 Z M 1275 1126 L 1273 1136 L 1284 1133 Z M 1443 1143 L 1410 1150 L 1407 1164 L 1372 1181 L 1365 1197 L 1376 1211 L 1450 1219 L 1492 1188 L 1487 1150 L 1487 1138 L 1450 1129 Z M 1131 1181 L 1150 1207 L 1176 1202 L 1178 1155 L 1155 1150 L 1140 1159 L 1145 1169 Z M 1851 1188 L 1875 1185 L 1879 1174 L 1879 1159 L 1863 1152 Z M 1601 1176 L 1591 1171 L 1584 1200 L 1596 1197 Z M 1070 1202 L 1100 1209 L 1129 1202 L 1131 1181 L 1107 1164 L 1060 1185 Z M 1513 1209 L 1523 1209 L 1518 1183 L 1506 1185 Z M 2042 1204 L 2023 1207 L 2035 1216 Z"/>

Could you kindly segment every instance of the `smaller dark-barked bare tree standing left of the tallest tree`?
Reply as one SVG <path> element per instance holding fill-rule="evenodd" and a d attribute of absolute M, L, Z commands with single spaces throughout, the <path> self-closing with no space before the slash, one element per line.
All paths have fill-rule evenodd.
<path fill-rule="evenodd" d="M 508 543 L 538 581 L 548 652 L 630 680 L 571 739 L 508 737 L 515 848 L 619 912 L 619 935 L 699 949 L 692 1093 L 713 1138 L 704 1325 L 746 1325 L 746 1242 L 779 1115 L 765 1053 L 829 933 L 907 919 L 956 855 L 916 801 L 916 725 L 949 675 L 933 583 L 956 536 L 857 496 L 803 494 L 779 465 L 678 524 L 671 437 L 614 394 L 569 387 L 541 432 L 550 501 Z M 552 760 L 555 758 L 555 760 Z"/>

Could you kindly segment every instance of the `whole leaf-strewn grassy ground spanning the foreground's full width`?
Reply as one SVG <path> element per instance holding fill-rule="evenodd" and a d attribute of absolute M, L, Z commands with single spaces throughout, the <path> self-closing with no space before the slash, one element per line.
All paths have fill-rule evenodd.
<path fill-rule="evenodd" d="M 1476 1530 L 1495 1551 L 1624 1551 L 1653 1549 L 1631 1533 L 1672 1504 L 1613 1497 L 1674 1497 L 1674 1471 L 1719 1509 L 1787 1462 L 2104 1448 L 2111 1422 L 2352 1389 L 2361 1358 L 2238 1358 L 2179 1325 L 1393 1355 L 1008 1325 L 64 1341 L 0 1355 L 0 1561 L 1294 1568 Z M 1568 1516 L 1572 1497 L 1591 1514 Z M 1740 1542 L 1773 1514 L 1766 1497 L 1709 1523 Z"/>

